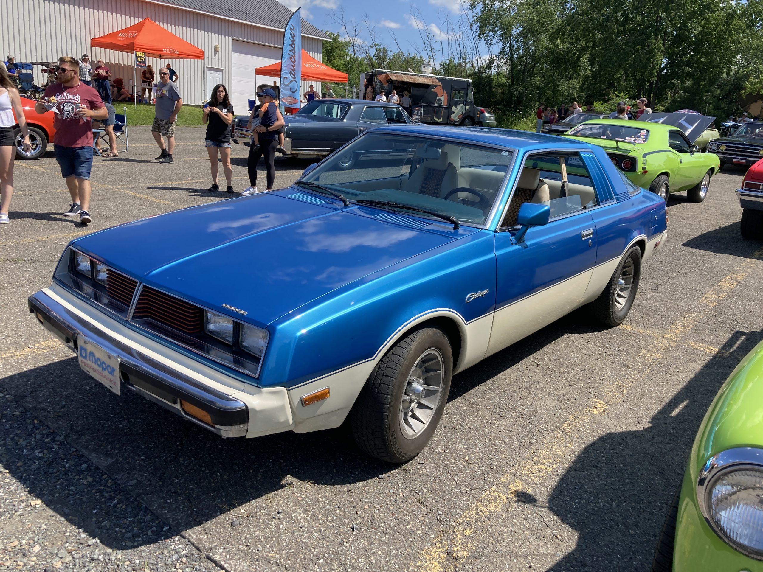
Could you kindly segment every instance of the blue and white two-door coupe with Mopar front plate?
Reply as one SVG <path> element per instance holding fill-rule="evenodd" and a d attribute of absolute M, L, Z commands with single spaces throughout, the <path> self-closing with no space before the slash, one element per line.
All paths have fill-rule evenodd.
<path fill-rule="evenodd" d="M 349 416 L 399 463 L 454 373 L 586 304 L 621 323 L 665 223 L 597 146 L 383 127 L 289 188 L 73 240 L 29 309 L 115 394 L 223 437 Z"/>

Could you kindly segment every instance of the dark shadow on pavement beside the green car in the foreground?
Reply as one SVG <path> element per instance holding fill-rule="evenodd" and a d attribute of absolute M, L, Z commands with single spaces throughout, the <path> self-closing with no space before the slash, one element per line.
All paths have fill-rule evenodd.
<path fill-rule="evenodd" d="M 578 544 L 550 570 L 650 569 L 700 422 L 761 339 L 763 332 L 732 334 L 643 429 L 607 433 L 581 451 L 549 497 L 552 512 L 578 532 Z"/>

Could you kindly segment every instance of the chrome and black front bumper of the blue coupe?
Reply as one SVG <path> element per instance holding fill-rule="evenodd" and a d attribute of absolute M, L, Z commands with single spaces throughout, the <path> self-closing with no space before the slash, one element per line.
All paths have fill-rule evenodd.
<path fill-rule="evenodd" d="M 29 297 L 27 303 L 37 320 L 72 351 L 77 352 L 79 336 L 85 336 L 89 342 L 118 356 L 120 381 L 124 387 L 221 437 L 243 437 L 247 434 L 250 407 L 243 400 L 168 367 L 159 359 L 118 339 L 121 336 L 109 335 L 46 291 Z M 181 401 L 207 412 L 211 425 L 186 413 Z"/>

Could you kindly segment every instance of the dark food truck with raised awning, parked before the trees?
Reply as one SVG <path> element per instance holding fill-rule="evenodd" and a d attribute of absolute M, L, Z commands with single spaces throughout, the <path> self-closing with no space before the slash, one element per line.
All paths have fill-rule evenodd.
<path fill-rule="evenodd" d="M 361 97 L 370 100 L 380 93 L 388 99 L 394 90 L 401 105 L 407 94 L 410 108 L 403 107 L 417 123 L 468 126 L 479 121 L 471 79 L 372 69 L 360 75 L 360 88 Z"/>

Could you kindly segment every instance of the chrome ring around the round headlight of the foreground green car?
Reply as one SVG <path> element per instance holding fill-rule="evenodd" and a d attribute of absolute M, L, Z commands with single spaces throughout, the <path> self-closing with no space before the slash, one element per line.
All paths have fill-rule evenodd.
<path fill-rule="evenodd" d="M 749 545 L 742 545 L 729 538 L 729 535 L 713 519 L 713 507 L 711 506 L 713 490 L 723 477 L 737 471 L 758 471 L 763 477 L 763 449 L 753 447 L 732 448 L 710 457 L 697 478 L 697 504 L 707 525 L 726 544 L 749 558 L 763 560 L 763 549 L 758 551 Z"/>

